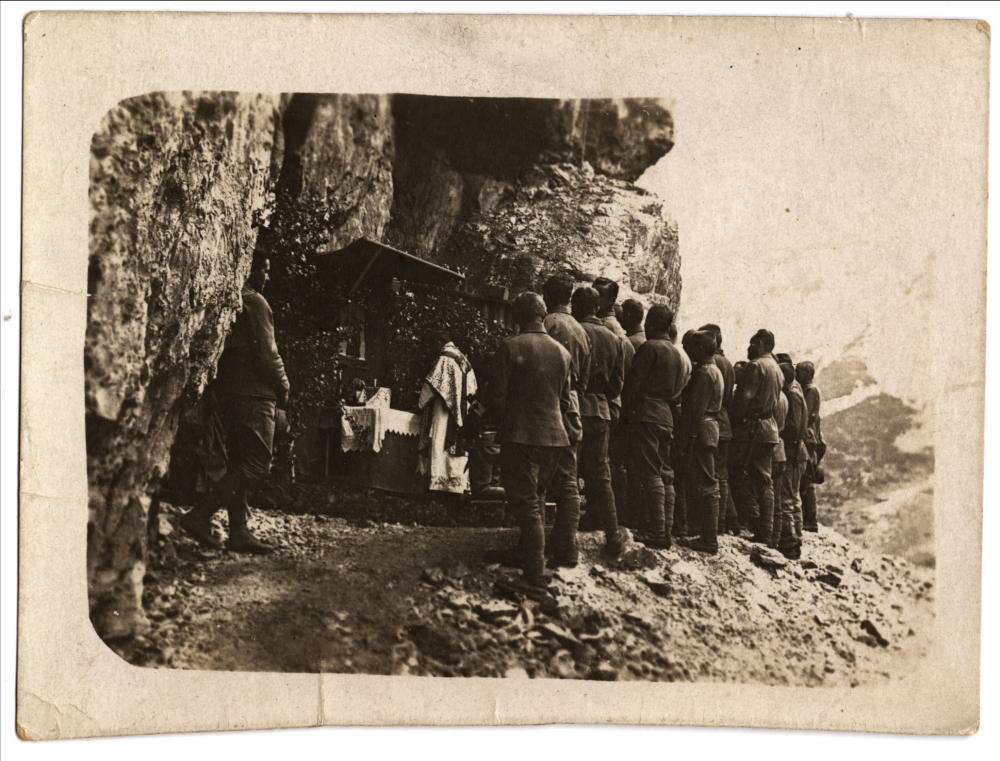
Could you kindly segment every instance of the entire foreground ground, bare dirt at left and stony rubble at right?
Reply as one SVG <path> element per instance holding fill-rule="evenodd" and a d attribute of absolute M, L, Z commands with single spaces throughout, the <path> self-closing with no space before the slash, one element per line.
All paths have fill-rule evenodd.
<path fill-rule="evenodd" d="M 348 523 L 255 510 L 267 557 L 205 551 L 165 505 L 151 628 L 118 650 L 154 667 L 857 685 L 927 647 L 933 571 L 823 528 L 800 561 L 724 537 L 718 556 L 581 534 L 552 604 L 498 594 L 505 528 Z M 225 519 L 220 529 L 225 530 Z"/>

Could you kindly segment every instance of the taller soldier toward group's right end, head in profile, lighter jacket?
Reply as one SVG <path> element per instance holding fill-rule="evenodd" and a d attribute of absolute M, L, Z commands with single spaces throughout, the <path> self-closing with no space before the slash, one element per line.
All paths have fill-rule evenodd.
<path fill-rule="evenodd" d="M 736 388 L 732 409 L 736 507 L 741 511 L 744 528 L 752 532 L 755 541 L 764 544 L 771 540 L 774 523 L 771 454 L 778 444 L 774 410 L 782 386 L 781 370 L 772 351 L 774 334 L 758 330 L 747 348 L 749 362 Z"/>

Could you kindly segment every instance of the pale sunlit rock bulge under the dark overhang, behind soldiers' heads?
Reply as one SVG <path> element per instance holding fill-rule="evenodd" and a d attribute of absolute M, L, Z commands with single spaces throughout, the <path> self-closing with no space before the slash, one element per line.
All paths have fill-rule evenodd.
<path fill-rule="evenodd" d="M 620 300 L 680 301 L 677 224 L 653 195 L 596 175 L 589 164 L 537 166 L 516 185 L 483 183 L 479 211 L 458 225 L 437 259 L 473 289 L 538 289 L 568 272 L 581 282 L 609 277 Z"/>

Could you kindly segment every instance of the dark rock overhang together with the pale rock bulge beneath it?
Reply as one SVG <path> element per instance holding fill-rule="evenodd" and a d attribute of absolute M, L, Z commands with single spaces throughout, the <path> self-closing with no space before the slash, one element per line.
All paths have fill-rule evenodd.
<path fill-rule="evenodd" d="M 677 308 L 677 226 L 632 185 L 673 146 L 653 99 L 396 96 L 389 240 L 512 292 L 570 271 Z"/>

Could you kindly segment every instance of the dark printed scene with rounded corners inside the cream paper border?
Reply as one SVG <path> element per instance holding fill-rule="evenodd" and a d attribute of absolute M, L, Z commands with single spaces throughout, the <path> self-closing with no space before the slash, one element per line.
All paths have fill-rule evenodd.
<path fill-rule="evenodd" d="M 832 188 L 772 192 L 779 165 L 737 194 L 777 245 L 685 235 L 707 178 L 678 157 L 703 139 L 683 114 L 115 106 L 90 154 L 85 346 L 102 639 L 177 669 L 904 678 L 936 592 L 911 362 L 935 250 L 815 217 L 882 181 L 863 145 Z M 703 236 L 711 259 L 684 245 Z"/>

